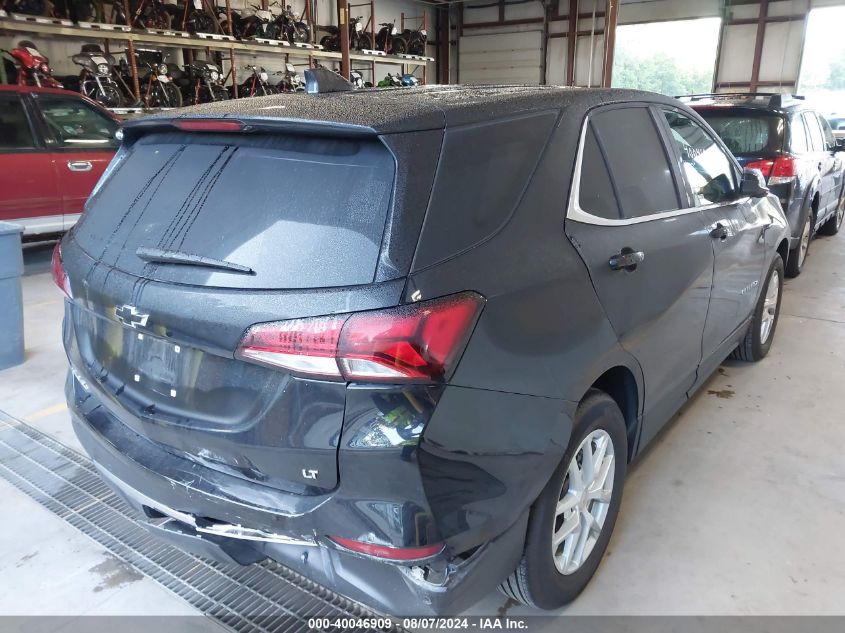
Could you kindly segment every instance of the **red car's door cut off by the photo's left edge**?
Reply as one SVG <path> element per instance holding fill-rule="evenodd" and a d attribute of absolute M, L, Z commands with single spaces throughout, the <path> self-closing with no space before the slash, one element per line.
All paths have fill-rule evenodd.
<path fill-rule="evenodd" d="M 16 94 L 0 95 L 0 220 L 27 233 L 62 229 L 62 204 L 50 155 Z"/>

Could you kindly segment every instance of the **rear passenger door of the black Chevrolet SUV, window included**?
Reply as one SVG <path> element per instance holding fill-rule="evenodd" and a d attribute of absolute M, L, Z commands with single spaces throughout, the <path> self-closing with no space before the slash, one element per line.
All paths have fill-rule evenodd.
<path fill-rule="evenodd" d="M 612 195 L 596 190 L 605 181 L 602 169 Z M 642 368 L 642 447 L 695 382 L 712 285 L 711 238 L 699 212 L 679 208 L 677 169 L 647 108 L 591 114 L 578 174 L 566 232 L 620 344 Z"/>

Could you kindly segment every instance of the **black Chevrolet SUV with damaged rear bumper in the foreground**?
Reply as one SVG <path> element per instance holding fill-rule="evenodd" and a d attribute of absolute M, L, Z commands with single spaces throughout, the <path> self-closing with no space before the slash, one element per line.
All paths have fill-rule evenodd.
<path fill-rule="evenodd" d="M 123 132 L 54 254 L 66 394 L 204 556 L 394 614 L 559 607 L 628 462 L 774 338 L 780 205 L 673 99 L 274 95 Z"/>

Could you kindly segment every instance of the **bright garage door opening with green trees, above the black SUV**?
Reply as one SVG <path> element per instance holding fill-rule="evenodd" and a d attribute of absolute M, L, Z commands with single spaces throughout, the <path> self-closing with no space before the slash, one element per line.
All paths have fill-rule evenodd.
<path fill-rule="evenodd" d="M 710 92 L 720 18 L 620 25 L 613 87 L 666 95 Z"/>

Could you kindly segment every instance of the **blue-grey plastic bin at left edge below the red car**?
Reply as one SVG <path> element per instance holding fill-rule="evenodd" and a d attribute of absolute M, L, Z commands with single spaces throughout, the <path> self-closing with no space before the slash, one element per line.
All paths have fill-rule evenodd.
<path fill-rule="evenodd" d="M 0 222 L 0 369 L 23 362 L 22 232 Z"/>

